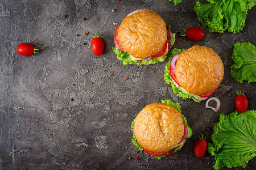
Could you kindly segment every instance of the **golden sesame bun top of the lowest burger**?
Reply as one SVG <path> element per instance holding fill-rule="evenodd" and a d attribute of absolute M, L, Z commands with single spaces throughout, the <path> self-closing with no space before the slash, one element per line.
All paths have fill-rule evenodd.
<path fill-rule="evenodd" d="M 134 134 L 139 144 L 153 152 L 167 152 L 180 142 L 184 122 L 171 105 L 152 103 L 135 118 Z"/>

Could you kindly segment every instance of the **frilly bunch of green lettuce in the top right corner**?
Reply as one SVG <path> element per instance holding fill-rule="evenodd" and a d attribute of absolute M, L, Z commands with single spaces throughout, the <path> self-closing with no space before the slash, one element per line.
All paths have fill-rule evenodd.
<path fill-rule="evenodd" d="M 255 0 L 207 0 L 196 2 L 197 20 L 209 32 L 240 32 L 245 26 L 247 11 L 256 5 Z"/>

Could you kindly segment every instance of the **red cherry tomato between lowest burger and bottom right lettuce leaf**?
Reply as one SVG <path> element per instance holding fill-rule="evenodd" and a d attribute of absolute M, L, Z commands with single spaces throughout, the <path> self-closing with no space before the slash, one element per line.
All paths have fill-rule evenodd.
<path fill-rule="evenodd" d="M 195 154 L 198 158 L 202 158 L 207 151 L 207 141 L 203 134 L 199 135 L 199 139 L 196 141 L 194 146 Z"/>

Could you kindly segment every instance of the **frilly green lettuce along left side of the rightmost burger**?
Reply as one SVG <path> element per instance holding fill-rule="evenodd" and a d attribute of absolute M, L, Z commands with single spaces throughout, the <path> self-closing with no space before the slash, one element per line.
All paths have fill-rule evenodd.
<path fill-rule="evenodd" d="M 198 100 L 196 99 L 195 97 L 193 97 L 192 95 L 185 95 L 183 93 L 181 93 L 177 87 L 175 86 L 174 84 L 174 80 L 172 80 L 172 76 L 170 74 L 170 66 L 171 66 L 171 61 L 172 61 L 172 58 L 174 56 L 176 56 L 177 54 L 180 54 L 182 52 L 184 52 L 185 49 L 172 49 L 172 54 L 171 56 L 169 57 L 169 62 L 167 63 L 167 65 L 164 67 L 164 80 L 166 81 L 166 84 L 170 84 L 171 83 L 171 86 L 172 86 L 172 91 L 174 91 L 174 93 L 179 96 L 179 97 L 182 97 L 183 99 L 193 99 L 194 101 L 196 102 L 200 102 L 201 100 Z M 197 95 L 196 95 L 197 96 Z"/>

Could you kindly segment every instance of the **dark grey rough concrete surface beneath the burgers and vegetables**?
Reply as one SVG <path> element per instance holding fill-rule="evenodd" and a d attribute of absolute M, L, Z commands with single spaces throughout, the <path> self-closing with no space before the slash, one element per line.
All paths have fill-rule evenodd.
<path fill-rule="evenodd" d="M 197 158 L 193 145 L 199 133 L 211 141 L 219 113 L 236 111 L 237 90 L 245 90 L 248 109 L 256 109 L 255 83 L 237 83 L 230 76 L 234 42 L 256 45 L 256 8 L 248 12 L 240 33 L 205 31 L 203 40 L 177 37 L 180 44 L 173 47 L 208 46 L 219 54 L 225 69 L 213 95 L 221 100 L 219 113 L 205 109 L 206 101 L 183 100 L 172 92 L 163 79 L 168 59 L 155 65 L 123 66 L 112 51 L 115 26 L 130 12 L 154 10 L 175 32 L 198 26 L 195 3 L 1 0 L 0 169 L 214 169 L 214 157 L 207 153 Z M 87 31 L 102 33 L 101 56 L 90 50 L 93 37 L 85 36 Z M 40 46 L 40 54 L 20 56 L 16 46 L 23 42 Z M 194 135 L 180 152 L 158 160 L 136 152 L 130 125 L 147 104 L 166 99 L 180 103 Z M 255 160 L 245 169 L 256 169 Z"/>

